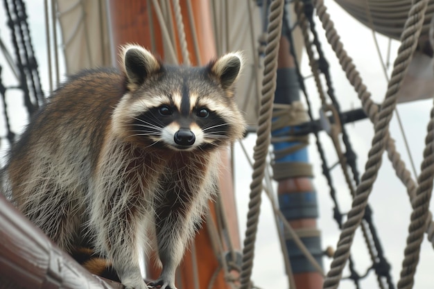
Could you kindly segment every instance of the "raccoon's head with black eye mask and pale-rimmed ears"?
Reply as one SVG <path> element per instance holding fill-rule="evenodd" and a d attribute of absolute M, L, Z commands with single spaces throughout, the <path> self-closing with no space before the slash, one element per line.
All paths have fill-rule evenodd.
<path fill-rule="evenodd" d="M 206 67 L 170 67 L 128 46 L 123 60 L 130 92 L 112 118 L 123 138 L 139 146 L 207 150 L 242 137 L 245 123 L 233 100 L 238 53 Z"/>

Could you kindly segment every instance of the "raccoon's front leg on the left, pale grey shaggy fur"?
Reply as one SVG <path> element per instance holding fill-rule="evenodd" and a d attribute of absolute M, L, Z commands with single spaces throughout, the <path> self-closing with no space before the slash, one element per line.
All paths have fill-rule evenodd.
<path fill-rule="evenodd" d="M 144 216 L 128 190 L 95 193 L 91 224 L 96 233 L 95 247 L 107 254 L 121 283 L 127 289 L 146 289 L 141 277 L 139 256 Z"/>

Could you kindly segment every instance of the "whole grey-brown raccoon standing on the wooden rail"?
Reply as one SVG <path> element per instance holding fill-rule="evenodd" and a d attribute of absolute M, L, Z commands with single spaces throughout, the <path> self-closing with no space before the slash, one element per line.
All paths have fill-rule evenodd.
<path fill-rule="evenodd" d="M 126 288 L 144 289 L 139 260 L 153 248 L 162 274 L 151 285 L 175 289 L 219 151 L 245 130 L 234 103 L 243 58 L 177 67 L 127 45 L 121 64 L 55 91 L 12 147 L 4 178 L 18 209 L 65 251 L 89 241 Z"/>

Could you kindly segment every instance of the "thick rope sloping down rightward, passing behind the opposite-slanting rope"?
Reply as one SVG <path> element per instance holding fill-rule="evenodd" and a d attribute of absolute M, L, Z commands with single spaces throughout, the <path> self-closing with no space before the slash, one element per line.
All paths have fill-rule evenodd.
<path fill-rule="evenodd" d="M 347 52 L 343 48 L 343 44 L 340 42 L 340 37 L 334 28 L 333 21 L 331 21 L 330 15 L 327 13 L 327 8 L 324 6 L 323 1 L 316 1 L 315 9 L 320 21 L 322 21 L 322 27 L 324 30 L 326 30 L 327 41 L 333 48 L 333 51 L 335 51 L 336 57 L 339 60 L 342 70 L 345 71 L 347 79 L 351 85 L 354 86 L 354 89 L 356 89 L 358 98 L 361 99 L 363 110 L 367 116 L 369 116 L 370 121 L 375 123 L 376 119 L 378 119 L 379 106 L 370 99 L 371 94 L 369 91 L 367 91 L 367 88 L 363 84 L 363 80 L 360 77 L 360 73 L 358 73 L 351 58 L 349 58 Z M 394 139 L 392 139 L 390 136 L 386 141 L 386 149 L 388 150 L 388 157 L 392 162 L 392 166 L 397 177 L 399 177 L 401 182 L 403 182 L 403 184 L 406 186 L 410 200 L 413 200 L 416 194 L 417 184 L 411 177 L 410 171 L 406 168 L 406 164 L 402 161 L 401 155 L 399 155 L 399 152 L 397 152 L 394 146 Z M 429 222 L 429 226 L 426 229 L 427 238 L 434 247 L 434 222 L 432 221 L 432 216 L 429 217 L 429 220 L 431 221 Z"/>

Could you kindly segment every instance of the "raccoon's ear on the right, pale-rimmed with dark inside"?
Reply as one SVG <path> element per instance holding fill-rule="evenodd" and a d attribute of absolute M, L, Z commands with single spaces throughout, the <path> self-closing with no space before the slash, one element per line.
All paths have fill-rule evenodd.
<path fill-rule="evenodd" d="M 209 69 L 217 77 L 223 89 L 232 87 L 243 69 L 243 54 L 231 52 L 209 63 Z"/>

